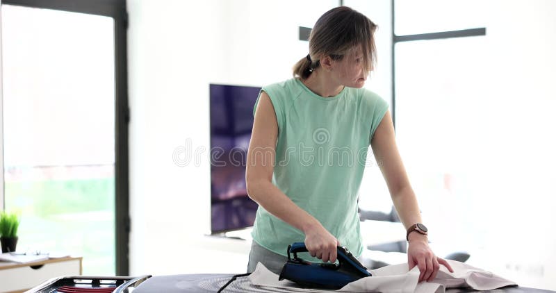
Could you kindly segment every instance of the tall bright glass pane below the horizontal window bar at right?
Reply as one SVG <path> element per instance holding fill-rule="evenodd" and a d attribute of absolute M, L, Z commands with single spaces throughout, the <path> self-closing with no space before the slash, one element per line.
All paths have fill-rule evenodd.
<path fill-rule="evenodd" d="M 486 202 L 499 200 L 484 180 L 496 168 L 491 147 L 501 147 L 487 124 L 498 101 L 486 97 L 486 70 L 477 70 L 485 45 L 484 37 L 461 37 L 403 42 L 395 51 L 396 138 L 431 241 L 475 256 L 491 233 L 480 220 Z"/>

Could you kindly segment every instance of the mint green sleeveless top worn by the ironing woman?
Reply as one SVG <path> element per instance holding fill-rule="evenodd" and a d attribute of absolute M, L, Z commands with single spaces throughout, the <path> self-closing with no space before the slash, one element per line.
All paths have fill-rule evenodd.
<path fill-rule="evenodd" d="M 298 78 L 262 91 L 270 97 L 278 123 L 272 183 L 359 257 L 363 245 L 357 196 L 365 166 L 370 164 L 366 162 L 370 140 L 388 104 L 374 92 L 352 87 L 334 97 L 320 97 Z M 256 212 L 252 237 L 282 256 L 288 244 L 305 240 L 302 231 L 262 206 Z"/>

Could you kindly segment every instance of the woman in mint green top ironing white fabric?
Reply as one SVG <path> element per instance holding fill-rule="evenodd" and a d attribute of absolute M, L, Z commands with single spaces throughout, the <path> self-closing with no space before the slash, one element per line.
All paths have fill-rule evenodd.
<path fill-rule="evenodd" d="M 428 246 L 389 107 L 362 88 L 376 62 L 376 28 L 351 8 L 329 10 L 313 27 L 294 77 L 261 89 L 245 176 L 259 203 L 247 271 L 261 262 L 278 274 L 293 242 L 304 242 L 322 262 L 335 262 L 339 245 L 361 255 L 357 194 L 369 144 L 408 229 L 409 269 L 418 266 L 419 281 L 432 281 L 439 265 L 452 271 Z"/>

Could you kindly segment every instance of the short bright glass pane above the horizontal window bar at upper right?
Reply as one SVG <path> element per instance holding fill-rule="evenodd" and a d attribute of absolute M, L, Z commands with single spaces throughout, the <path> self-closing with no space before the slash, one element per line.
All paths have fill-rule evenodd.
<path fill-rule="evenodd" d="M 489 16 L 484 0 L 395 0 L 395 34 L 414 35 L 482 28 Z M 490 15 L 492 16 L 492 15 Z"/>

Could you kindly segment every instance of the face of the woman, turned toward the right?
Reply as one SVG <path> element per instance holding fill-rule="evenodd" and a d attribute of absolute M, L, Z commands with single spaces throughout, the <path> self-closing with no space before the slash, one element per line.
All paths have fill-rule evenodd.
<path fill-rule="evenodd" d="M 333 76 L 346 87 L 361 88 L 369 72 L 363 67 L 363 52 L 360 47 L 347 51 L 342 60 L 334 61 Z"/>

